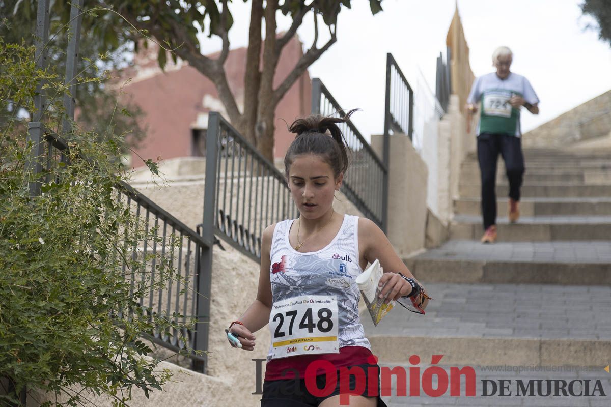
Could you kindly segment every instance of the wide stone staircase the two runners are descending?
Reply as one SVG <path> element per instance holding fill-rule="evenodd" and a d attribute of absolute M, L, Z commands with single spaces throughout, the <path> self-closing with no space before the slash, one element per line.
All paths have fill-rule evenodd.
<path fill-rule="evenodd" d="M 603 370 L 611 361 L 611 152 L 528 149 L 525 160 L 522 217 L 510 224 L 499 157 L 499 238 L 483 245 L 479 169 L 467 157 L 450 240 L 404 259 L 434 298 L 426 316 L 399 306 L 377 327 L 362 318 L 382 364 L 407 370 L 419 355 L 422 375 L 431 355 L 444 355 L 448 373 L 474 367 L 477 397 L 464 397 L 463 384 L 463 397 L 421 389 L 420 397 L 383 397 L 389 405 L 611 405 Z M 516 373 L 522 368 L 530 372 Z M 484 379 L 599 379 L 607 397 L 482 397 Z"/>

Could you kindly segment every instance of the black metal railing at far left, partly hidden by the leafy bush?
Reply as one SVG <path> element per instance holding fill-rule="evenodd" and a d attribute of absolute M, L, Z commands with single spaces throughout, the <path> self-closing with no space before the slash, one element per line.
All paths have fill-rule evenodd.
<path fill-rule="evenodd" d="M 41 128 L 41 124 L 31 122 L 30 127 Z M 44 167 L 46 171 L 37 182 L 33 183 L 36 185 L 49 184 L 54 181 L 53 170 L 60 163 L 72 164 L 70 154 L 67 153 L 69 147 L 65 140 L 45 131 L 44 128 L 43 131 L 42 142 L 33 146 L 34 151 L 43 151 L 43 154 L 35 157 L 33 161 L 39 169 Z M 87 160 L 87 157 L 79 156 L 79 159 Z M 95 163 L 92 164 L 95 165 Z M 34 185 L 31 186 L 34 187 Z M 36 188 L 40 190 L 38 186 Z M 31 193 L 35 193 L 35 190 L 31 190 Z M 122 249 L 123 253 L 128 253 L 132 265 L 142 262 L 148 254 L 157 255 L 149 256 L 150 259 L 143 262 L 143 267 L 139 270 L 134 269 L 130 262 L 124 261 L 120 256 L 115 259 L 115 267 L 120 267 L 122 274 L 130 279 L 130 295 L 133 295 L 136 289 L 142 293 L 142 287 L 145 287 L 144 295 L 139 295 L 138 298 L 145 313 L 163 315 L 178 325 L 190 325 L 189 322 L 192 320 L 196 322 L 195 325 L 191 325 L 191 328 L 183 328 L 181 332 L 175 328 L 171 333 L 154 331 L 148 339 L 174 351 L 184 348 L 193 351 L 207 350 L 210 325 L 211 265 L 209 263 L 211 257 L 207 262 L 206 256 L 211 256 L 209 252 L 212 250 L 213 241 L 204 239 L 199 231 L 192 230 L 124 181 L 119 181 L 114 185 L 113 196 L 121 207 L 128 208 L 131 214 L 135 215 L 134 222 L 138 223 L 138 225 L 120 225 L 123 230 L 136 228 L 146 232 L 144 240 L 137 244 L 134 243 L 131 247 L 119 249 Z M 156 273 L 158 273 L 158 260 L 161 259 L 167 260 L 174 276 L 167 279 L 161 288 L 149 284 L 147 289 L 147 282 L 155 281 Z M 181 317 L 172 317 L 172 315 L 181 315 Z M 120 315 L 126 318 L 130 316 Z M 191 352 L 189 357 L 193 359 L 194 369 L 205 372 L 207 361 L 205 356 Z"/>

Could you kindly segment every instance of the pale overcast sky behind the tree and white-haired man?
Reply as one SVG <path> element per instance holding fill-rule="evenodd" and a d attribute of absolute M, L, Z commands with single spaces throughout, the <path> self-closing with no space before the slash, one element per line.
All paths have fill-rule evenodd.
<path fill-rule="evenodd" d="M 611 47 L 598 33 L 585 29 L 581 0 L 459 0 L 458 9 L 470 48 L 475 76 L 494 70 L 491 54 L 499 45 L 513 53 L 511 71 L 526 76 L 541 99 L 538 116 L 522 110 L 524 131 L 584 103 L 611 88 Z M 361 132 L 381 134 L 384 128 L 386 52 L 392 52 L 408 77 L 419 69 L 435 89 L 435 59 L 445 54 L 445 36 L 455 0 L 384 0 L 384 11 L 371 15 L 367 0 L 338 17 L 337 43 L 309 68 L 320 77 L 344 109 L 360 107 L 353 121 Z M 231 4 L 235 25 L 232 48 L 247 45 L 249 3 Z M 279 30 L 290 26 L 279 19 Z M 312 18 L 304 20 L 299 38 L 309 46 Z M 324 38 L 323 38 L 324 40 Z M 320 39 L 319 39 L 320 41 Z M 216 51 L 219 41 L 203 38 L 203 51 Z M 285 118 L 289 121 L 292 118 Z"/>

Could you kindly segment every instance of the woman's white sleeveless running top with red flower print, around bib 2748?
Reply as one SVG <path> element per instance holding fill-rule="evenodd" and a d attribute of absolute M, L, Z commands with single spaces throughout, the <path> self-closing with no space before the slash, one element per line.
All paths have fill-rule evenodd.
<path fill-rule="evenodd" d="M 344 215 L 339 232 L 326 247 L 307 253 L 293 248 L 288 232 L 295 219 L 276 224 L 269 257 L 273 302 L 301 295 L 335 295 L 339 346 L 371 349 L 359 317 L 360 291 L 354 280 L 359 265 L 359 217 Z M 271 358 L 272 348 L 268 355 Z"/>

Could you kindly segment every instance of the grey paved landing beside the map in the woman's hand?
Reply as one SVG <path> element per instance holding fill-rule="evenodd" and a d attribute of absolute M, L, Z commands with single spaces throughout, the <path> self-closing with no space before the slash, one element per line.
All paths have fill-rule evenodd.
<path fill-rule="evenodd" d="M 434 301 L 425 316 L 408 312 L 397 304 L 378 326 L 373 326 L 364 313 L 361 321 L 365 333 L 611 339 L 611 287 L 429 283 L 426 289 Z"/>

